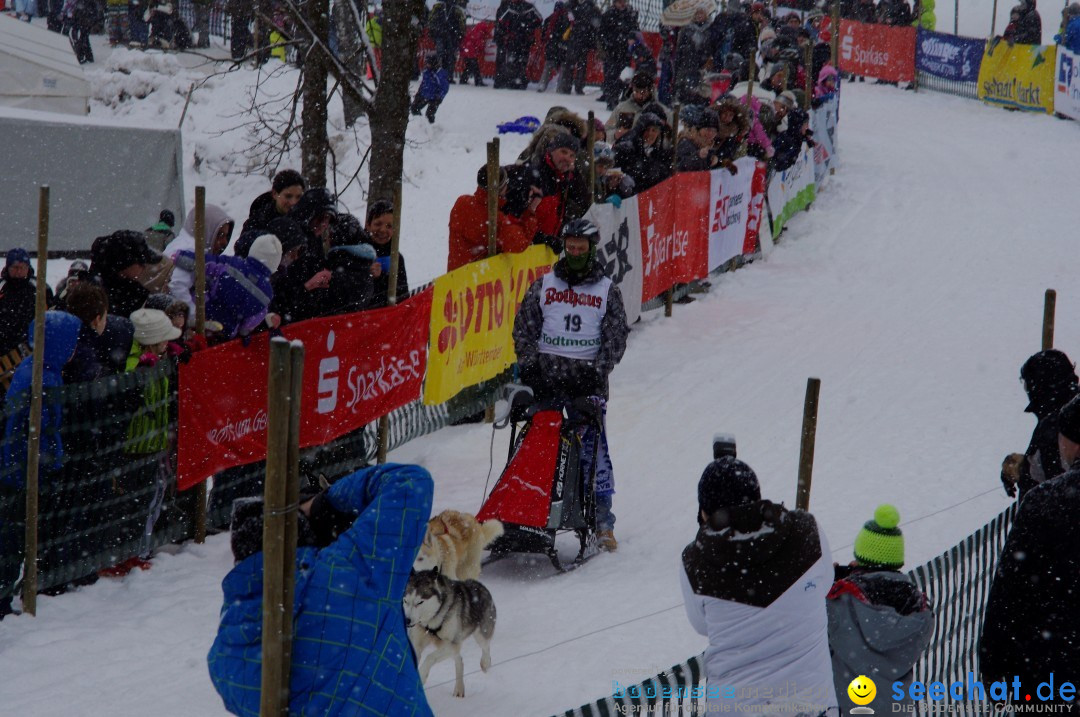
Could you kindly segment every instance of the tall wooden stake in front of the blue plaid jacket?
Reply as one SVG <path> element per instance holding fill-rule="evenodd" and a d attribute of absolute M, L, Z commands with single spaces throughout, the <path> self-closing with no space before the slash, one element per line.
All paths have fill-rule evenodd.
<path fill-rule="evenodd" d="M 267 473 L 262 504 L 262 681 L 259 693 L 260 717 L 284 717 L 288 700 L 288 679 L 284 664 L 285 516 L 296 519 L 295 506 L 288 504 L 288 433 L 292 362 L 286 339 L 270 341 L 270 375 L 267 406 Z"/>

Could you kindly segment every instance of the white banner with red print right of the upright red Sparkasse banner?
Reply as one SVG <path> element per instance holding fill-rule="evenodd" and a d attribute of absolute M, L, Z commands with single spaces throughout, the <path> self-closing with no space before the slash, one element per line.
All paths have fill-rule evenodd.
<path fill-rule="evenodd" d="M 714 271 L 740 256 L 746 241 L 751 218 L 751 192 L 757 160 L 743 157 L 735 161 L 738 173 L 713 170 L 710 173 L 708 270 Z M 764 181 L 762 181 L 764 184 Z"/>

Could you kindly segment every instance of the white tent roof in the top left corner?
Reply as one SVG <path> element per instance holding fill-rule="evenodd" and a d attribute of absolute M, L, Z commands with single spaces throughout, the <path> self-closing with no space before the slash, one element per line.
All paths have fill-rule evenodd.
<path fill-rule="evenodd" d="M 71 42 L 40 25 L 0 15 L 0 106 L 86 114 L 90 83 Z"/>

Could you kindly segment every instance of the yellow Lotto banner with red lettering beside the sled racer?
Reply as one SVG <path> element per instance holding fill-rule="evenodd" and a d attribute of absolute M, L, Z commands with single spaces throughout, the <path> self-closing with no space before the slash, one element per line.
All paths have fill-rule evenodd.
<path fill-rule="evenodd" d="M 516 361 L 514 316 L 525 292 L 551 271 L 546 246 L 500 254 L 435 280 L 423 403 L 444 403 Z"/>

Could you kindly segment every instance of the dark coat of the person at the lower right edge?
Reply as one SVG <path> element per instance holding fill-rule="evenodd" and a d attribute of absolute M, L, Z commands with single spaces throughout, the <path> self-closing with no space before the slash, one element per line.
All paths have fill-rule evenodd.
<path fill-rule="evenodd" d="M 982 640 L 983 679 L 1025 685 L 1080 674 L 1080 470 L 1020 503 L 994 574 Z"/>

